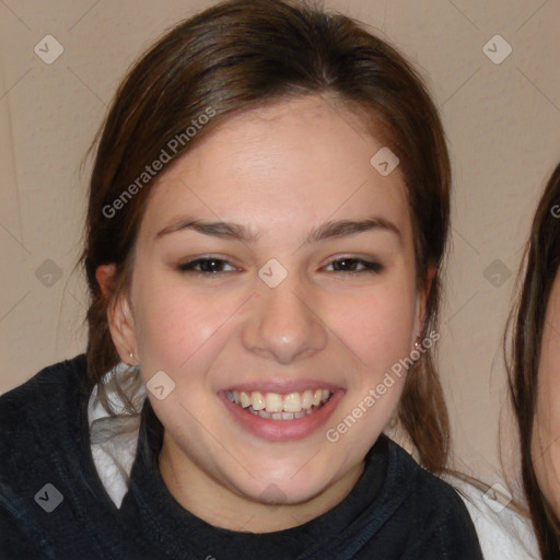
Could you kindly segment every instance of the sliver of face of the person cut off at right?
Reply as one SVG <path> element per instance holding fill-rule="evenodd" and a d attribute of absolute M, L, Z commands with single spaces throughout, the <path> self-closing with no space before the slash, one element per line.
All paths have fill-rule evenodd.
<path fill-rule="evenodd" d="M 560 272 L 550 291 L 538 369 L 532 456 L 539 487 L 560 516 Z"/>

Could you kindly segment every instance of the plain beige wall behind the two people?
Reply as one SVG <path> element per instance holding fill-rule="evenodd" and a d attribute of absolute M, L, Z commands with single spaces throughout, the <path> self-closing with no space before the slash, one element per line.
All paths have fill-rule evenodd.
<path fill-rule="evenodd" d="M 80 163 L 128 66 L 212 3 L 0 0 L 0 392 L 84 350 L 86 298 L 73 266 L 90 166 L 81 175 Z M 505 435 L 512 425 L 501 337 L 530 218 L 560 156 L 560 2 L 325 4 L 399 47 L 440 107 L 455 173 L 441 371 L 457 465 L 493 483 L 504 476 L 500 417 Z M 505 458 L 515 466 L 514 451 Z"/>

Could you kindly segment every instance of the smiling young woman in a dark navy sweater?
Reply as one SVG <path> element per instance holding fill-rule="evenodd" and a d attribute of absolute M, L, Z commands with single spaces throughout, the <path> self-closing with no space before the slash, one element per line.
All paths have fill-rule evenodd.
<path fill-rule="evenodd" d="M 351 20 L 172 30 L 98 138 L 86 352 L 0 398 L 4 558 L 481 559 L 429 472 L 450 184 L 421 80 Z"/>

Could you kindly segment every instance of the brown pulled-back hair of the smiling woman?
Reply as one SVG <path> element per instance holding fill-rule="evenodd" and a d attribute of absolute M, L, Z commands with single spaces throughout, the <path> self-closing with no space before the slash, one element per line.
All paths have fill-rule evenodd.
<path fill-rule="evenodd" d="M 188 142 L 185 139 L 176 156 L 233 115 L 308 94 L 341 101 L 399 158 L 419 288 L 425 288 L 428 267 L 436 268 L 422 335 L 436 330 L 451 165 L 440 117 L 422 80 L 395 48 L 342 14 L 295 0 L 231 0 L 180 22 L 150 48 L 119 86 L 97 133 L 80 259 L 91 293 L 86 357 L 93 382 L 100 383 L 120 361 L 107 310 L 130 279 L 135 241 L 154 180 L 135 189 L 138 192 L 112 218 L 103 209 L 138 179 L 170 139 L 185 136 L 209 108 L 210 121 Z M 116 265 L 106 298 L 95 279 L 103 264 Z M 425 351 L 412 368 L 398 418 L 423 465 L 439 471 L 446 465 L 450 435 L 432 352 Z M 100 394 L 110 412 L 102 384 Z"/>

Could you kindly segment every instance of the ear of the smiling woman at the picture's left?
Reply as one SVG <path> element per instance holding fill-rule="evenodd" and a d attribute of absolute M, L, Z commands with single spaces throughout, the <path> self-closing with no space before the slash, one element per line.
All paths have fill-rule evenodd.
<path fill-rule="evenodd" d="M 114 264 L 101 265 L 95 270 L 95 278 L 104 298 L 108 302 L 107 323 L 109 325 L 110 337 L 120 355 L 120 360 L 130 365 L 137 365 L 138 347 L 132 308 L 126 292 L 115 294 L 113 283 L 115 269 Z M 132 352 L 133 358 L 130 358 L 130 352 Z"/>

